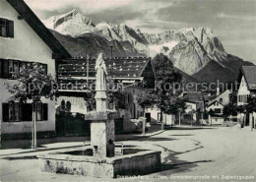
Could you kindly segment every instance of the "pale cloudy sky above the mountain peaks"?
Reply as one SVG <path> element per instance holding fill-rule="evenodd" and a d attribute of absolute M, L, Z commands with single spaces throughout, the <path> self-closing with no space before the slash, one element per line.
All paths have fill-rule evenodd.
<path fill-rule="evenodd" d="M 147 32 L 209 27 L 227 53 L 256 60 L 256 0 L 25 1 L 41 20 L 77 9 L 95 24 L 124 23 Z"/>

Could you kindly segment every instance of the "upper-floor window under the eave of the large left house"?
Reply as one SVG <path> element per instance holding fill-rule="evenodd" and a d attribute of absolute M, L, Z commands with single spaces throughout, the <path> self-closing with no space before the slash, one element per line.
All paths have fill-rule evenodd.
<path fill-rule="evenodd" d="M 0 19 L 0 36 L 14 37 L 14 22 Z"/>

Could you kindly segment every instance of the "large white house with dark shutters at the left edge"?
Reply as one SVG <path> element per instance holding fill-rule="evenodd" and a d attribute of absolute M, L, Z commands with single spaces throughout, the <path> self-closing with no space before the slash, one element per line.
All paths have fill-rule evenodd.
<path fill-rule="evenodd" d="M 32 62 L 45 74 L 55 74 L 56 60 L 70 54 L 47 30 L 23 0 L 0 1 L 0 134 L 4 139 L 31 136 L 32 103 L 10 101 L 3 83 L 15 83 L 14 74 Z M 38 135 L 55 133 L 55 102 L 42 99 L 37 113 Z"/>

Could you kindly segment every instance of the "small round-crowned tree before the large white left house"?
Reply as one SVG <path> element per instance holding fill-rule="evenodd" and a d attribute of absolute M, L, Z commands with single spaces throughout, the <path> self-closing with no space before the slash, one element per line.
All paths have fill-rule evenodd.
<path fill-rule="evenodd" d="M 18 83 L 7 84 L 7 90 L 12 93 L 11 100 L 27 102 L 32 100 L 32 148 L 36 150 L 36 112 L 41 97 L 53 99 L 56 90 L 52 88 L 56 80 L 52 75 L 45 75 L 45 70 L 39 63 L 29 63 L 27 68 L 21 68 L 15 78 Z"/>

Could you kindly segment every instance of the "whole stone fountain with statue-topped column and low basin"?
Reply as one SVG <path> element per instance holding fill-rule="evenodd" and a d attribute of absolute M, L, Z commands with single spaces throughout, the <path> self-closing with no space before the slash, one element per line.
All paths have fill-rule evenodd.
<path fill-rule="evenodd" d="M 115 154 L 114 119 L 116 112 L 106 107 L 106 67 L 102 54 L 96 60 L 96 112 L 86 115 L 91 120 L 91 145 L 81 149 L 62 150 L 37 155 L 45 172 L 93 177 L 144 175 L 160 170 L 160 152 L 130 149 Z"/>

